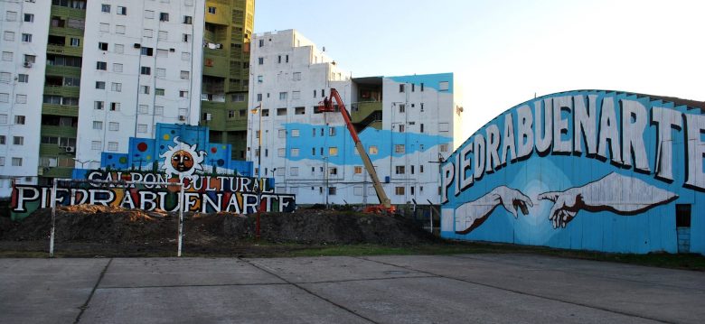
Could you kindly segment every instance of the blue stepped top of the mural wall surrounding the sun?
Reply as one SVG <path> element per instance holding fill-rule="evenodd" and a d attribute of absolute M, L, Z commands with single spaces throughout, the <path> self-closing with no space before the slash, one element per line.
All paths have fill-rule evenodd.
<path fill-rule="evenodd" d="M 101 153 L 100 167 L 111 170 L 146 169 L 151 170 L 157 162 L 157 169 L 164 168 L 164 156 L 177 145 L 185 145 L 193 151 L 193 157 L 200 158 L 194 171 L 237 172 L 242 176 L 252 175 L 252 162 L 230 159 L 230 144 L 210 143 L 209 129 L 205 126 L 157 124 L 155 138 L 130 137 L 128 153 Z M 192 148 L 193 147 L 193 148 Z M 202 152 L 202 154 L 197 153 Z"/>

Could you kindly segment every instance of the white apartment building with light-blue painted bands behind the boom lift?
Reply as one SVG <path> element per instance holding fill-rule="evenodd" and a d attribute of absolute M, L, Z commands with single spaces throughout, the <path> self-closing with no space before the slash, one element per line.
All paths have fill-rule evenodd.
<path fill-rule="evenodd" d="M 439 159 L 461 141 L 452 73 L 351 79 L 287 30 L 255 35 L 250 74 L 249 106 L 258 109 L 249 114 L 248 156 L 277 191 L 299 204 L 379 203 L 343 117 L 317 109 L 335 88 L 391 202 L 438 203 Z"/>

